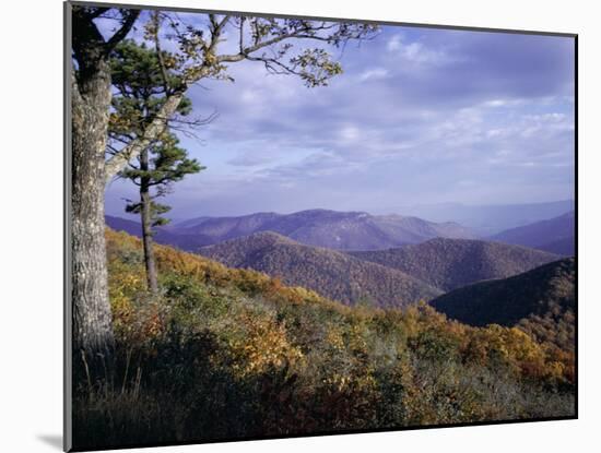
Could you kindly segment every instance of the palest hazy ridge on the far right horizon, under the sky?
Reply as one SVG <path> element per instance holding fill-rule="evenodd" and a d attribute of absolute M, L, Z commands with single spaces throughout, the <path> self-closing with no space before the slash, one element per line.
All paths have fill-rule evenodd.
<path fill-rule="evenodd" d="M 533 224 L 574 211 L 574 200 L 544 203 L 466 205 L 439 203 L 397 208 L 409 215 L 427 218 L 432 222 L 457 222 L 471 228 L 478 235 L 492 236 L 509 228 Z"/>

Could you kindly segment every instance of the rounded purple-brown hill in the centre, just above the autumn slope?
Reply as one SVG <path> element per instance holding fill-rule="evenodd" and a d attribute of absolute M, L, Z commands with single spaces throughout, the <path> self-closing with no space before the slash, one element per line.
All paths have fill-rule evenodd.
<path fill-rule="evenodd" d="M 287 285 L 304 286 L 349 305 L 365 300 L 397 307 L 441 294 L 400 271 L 335 250 L 303 246 L 271 231 L 203 247 L 199 253 L 229 267 L 278 276 Z"/>

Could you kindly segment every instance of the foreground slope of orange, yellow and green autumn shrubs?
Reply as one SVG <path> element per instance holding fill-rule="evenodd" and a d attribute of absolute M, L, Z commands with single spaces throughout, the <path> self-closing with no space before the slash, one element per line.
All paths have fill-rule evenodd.
<path fill-rule="evenodd" d="M 78 381 L 79 444 L 110 446 L 574 415 L 574 355 L 425 303 L 346 307 L 107 231 L 118 363 Z M 126 443 L 127 443 L 126 442 Z"/>

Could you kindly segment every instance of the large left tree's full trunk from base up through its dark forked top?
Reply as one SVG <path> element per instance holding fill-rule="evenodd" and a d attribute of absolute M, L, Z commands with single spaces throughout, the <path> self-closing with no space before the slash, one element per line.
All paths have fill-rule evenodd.
<path fill-rule="evenodd" d="M 71 251 L 73 347 L 94 372 L 107 367 L 114 348 L 106 267 L 105 150 L 110 106 L 111 49 L 129 33 L 137 10 L 123 13 L 119 29 L 105 40 L 94 24 L 103 9 L 72 8 Z M 76 70 L 76 73 L 75 73 Z M 98 360 L 99 359 L 99 360 Z M 97 375 L 99 377 L 99 375 Z"/>

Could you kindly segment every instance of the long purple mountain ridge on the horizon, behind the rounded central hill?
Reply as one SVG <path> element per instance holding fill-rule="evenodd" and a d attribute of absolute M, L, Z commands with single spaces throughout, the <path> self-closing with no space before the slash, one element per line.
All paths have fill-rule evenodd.
<path fill-rule="evenodd" d="M 140 236 L 135 222 L 107 216 L 107 225 Z M 455 223 L 436 224 L 400 215 L 374 216 L 327 210 L 294 214 L 257 213 L 238 217 L 199 217 L 157 229 L 157 242 L 197 251 L 199 247 L 273 231 L 297 242 L 335 250 L 378 250 L 416 243 L 435 237 L 474 238 Z"/>

